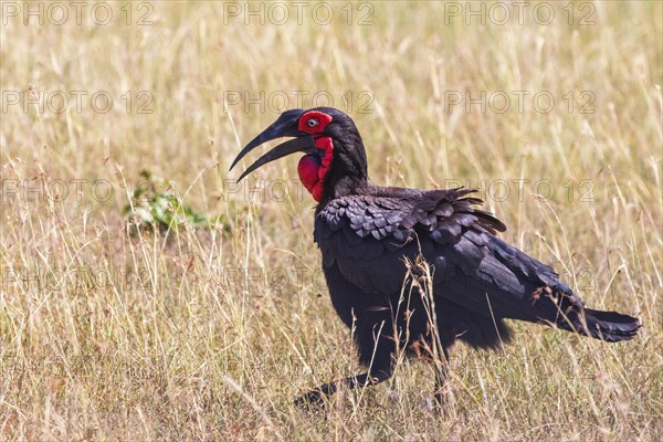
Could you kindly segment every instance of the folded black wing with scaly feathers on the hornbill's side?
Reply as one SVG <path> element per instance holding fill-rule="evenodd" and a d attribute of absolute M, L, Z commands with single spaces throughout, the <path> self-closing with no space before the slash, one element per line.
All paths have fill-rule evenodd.
<path fill-rule="evenodd" d="M 404 260 L 431 264 L 435 296 L 486 316 L 555 320 L 581 299 L 555 271 L 495 236 L 506 228 L 472 190 L 379 188 L 329 201 L 316 215 L 323 265 L 366 293 L 401 291 Z"/>

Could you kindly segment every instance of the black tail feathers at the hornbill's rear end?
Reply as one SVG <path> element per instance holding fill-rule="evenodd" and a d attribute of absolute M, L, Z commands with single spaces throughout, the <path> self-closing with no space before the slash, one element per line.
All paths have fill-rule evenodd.
<path fill-rule="evenodd" d="M 559 320 L 557 326 L 569 332 L 608 343 L 631 340 L 642 326 L 638 318 L 617 312 L 601 312 L 583 308 L 578 315 L 567 320 Z"/>

